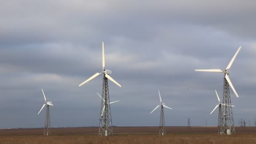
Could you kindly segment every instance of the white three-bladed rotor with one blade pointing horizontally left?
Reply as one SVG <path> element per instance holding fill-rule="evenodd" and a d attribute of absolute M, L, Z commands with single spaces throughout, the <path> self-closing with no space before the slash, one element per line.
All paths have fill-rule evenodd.
<path fill-rule="evenodd" d="M 232 64 L 233 64 L 237 54 L 239 53 L 240 49 L 241 49 L 241 46 L 238 48 L 237 52 L 235 53 L 235 55 L 233 56 L 233 58 L 231 59 L 231 61 L 229 62 L 228 66 L 227 66 L 227 68 L 225 70 L 221 70 L 221 69 L 195 69 L 195 71 L 197 71 L 197 72 L 223 72 L 227 82 L 229 83 L 230 87 L 234 91 L 235 95 L 237 97 L 239 97 L 238 94 L 237 94 L 237 91 L 235 91 L 235 88 L 234 88 L 233 84 L 231 83 L 231 80 L 229 79 L 228 70 L 232 66 Z"/>

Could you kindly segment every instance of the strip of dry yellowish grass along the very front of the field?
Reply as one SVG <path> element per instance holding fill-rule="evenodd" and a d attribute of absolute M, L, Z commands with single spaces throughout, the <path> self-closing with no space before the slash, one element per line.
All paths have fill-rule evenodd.
<path fill-rule="evenodd" d="M 2 136 L 0 144 L 256 144 L 256 135 Z"/>

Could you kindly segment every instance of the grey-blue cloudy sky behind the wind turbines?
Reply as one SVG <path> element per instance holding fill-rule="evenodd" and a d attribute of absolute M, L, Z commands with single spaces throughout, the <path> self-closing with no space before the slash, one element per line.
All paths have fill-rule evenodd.
<path fill-rule="evenodd" d="M 217 125 L 214 90 L 239 46 L 229 77 L 235 125 L 256 115 L 256 2 L 254 0 L 8 0 L 0 1 L 0 128 L 99 125 L 101 42 L 109 82 L 112 123 L 157 126 L 163 102 L 166 125 Z"/>

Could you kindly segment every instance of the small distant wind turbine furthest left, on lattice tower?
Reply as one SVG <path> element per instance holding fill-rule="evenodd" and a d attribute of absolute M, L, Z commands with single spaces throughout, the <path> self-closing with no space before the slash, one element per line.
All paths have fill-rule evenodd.
<path fill-rule="evenodd" d="M 43 92 L 43 88 L 42 88 L 42 92 Z M 50 105 L 53 106 L 53 104 L 52 104 L 51 101 L 46 101 L 46 97 L 45 97 L 45 93 L 44 92 L 43 92 L 43 97 L 45 98 L 45 104 L 43 104 L 43 107 L 45 107 L 45 105 L 47 105 L 47 107 L 46 107 L 46 114 L 45 114 L 45 128 L 44 128 L 43 134 L 45 136 L 48 136 L 51 133 L 51 131 L 50 131 L 51 123 L 50 123 L 50 109 L 49 109 L 49 106 Z M 39 115 L 39 113 L 41 112 L 43 107 L 40 109 L 40 111 L 38 112 L 37 115 Z"/>

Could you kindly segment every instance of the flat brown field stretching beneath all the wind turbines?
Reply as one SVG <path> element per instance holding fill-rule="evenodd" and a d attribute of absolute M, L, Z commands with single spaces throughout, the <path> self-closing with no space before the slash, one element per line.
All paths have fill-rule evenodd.
<path fill-rule="evenodd" d="M 235 128 L 231 136 L 217 135 L 216 127 L 166 127 L 168 135 L 159 136 L 158 127 L 114 127 L 115 136 L 98 136 L 99 128 L 43 128 L 0 130 L 0 144 L 256 144 L 256 128 Z"/>

